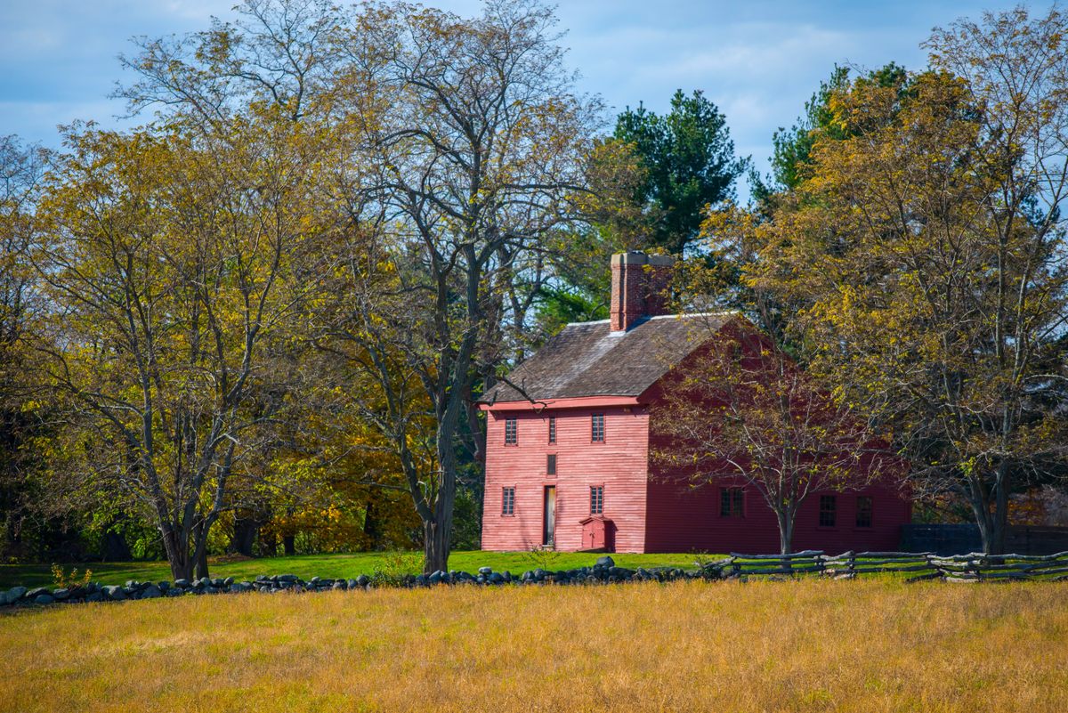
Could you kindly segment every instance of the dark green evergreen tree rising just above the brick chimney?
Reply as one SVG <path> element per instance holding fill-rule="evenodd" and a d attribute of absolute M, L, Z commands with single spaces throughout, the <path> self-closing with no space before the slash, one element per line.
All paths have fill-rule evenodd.
<path fill-rule="evenodd" d="M 726 118 L 700 91 L 675 92 L 663 116 L 642 105 L 628 108 L 615 138 L 632 145 L 646 170 L 635 200 L 648 215 L 649 242 L 674 254 L 697 237 L 705 206 L 734 195 L 748 165 L 735 157 Z"/>

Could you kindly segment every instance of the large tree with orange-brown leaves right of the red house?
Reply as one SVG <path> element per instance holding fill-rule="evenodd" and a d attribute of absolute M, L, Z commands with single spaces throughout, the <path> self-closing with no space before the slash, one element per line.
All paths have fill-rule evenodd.
<path fill-rule="evenodd" d="M 749 280 L 804 305 L 813 367 L 968 500 L 987 552 L 1009 495 L 1068 456 L 1068 22 L 1017 9 L 936 31 L 936 70 L 832 96 Z"/>

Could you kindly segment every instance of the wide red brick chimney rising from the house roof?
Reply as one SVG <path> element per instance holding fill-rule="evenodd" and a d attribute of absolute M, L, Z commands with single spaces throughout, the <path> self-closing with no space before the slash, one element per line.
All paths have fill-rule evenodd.
<path fill-rule="evenodd" d="M 612 255 L 612 331 L 625 332 L 643 317 L 668 314 L 671 255 Z"/>

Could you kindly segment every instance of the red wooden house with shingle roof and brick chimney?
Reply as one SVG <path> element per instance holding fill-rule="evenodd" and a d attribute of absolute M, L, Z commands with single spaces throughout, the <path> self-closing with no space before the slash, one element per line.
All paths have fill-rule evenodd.
<path fill-rule="evenodd" d="M 568 324 L 483 397 L 484 550 L 779 551 L 755 487 L 724 478 L 694 488 L 650 459 L 677 370 L 718 332 L 749 324 L 729 313 L 664 314 L 670 264 L 614 255 L 611 319 Z M 896 550 L 910 514 L 890 487 L 815 493 L 798 513 L 795 549 Z"/>

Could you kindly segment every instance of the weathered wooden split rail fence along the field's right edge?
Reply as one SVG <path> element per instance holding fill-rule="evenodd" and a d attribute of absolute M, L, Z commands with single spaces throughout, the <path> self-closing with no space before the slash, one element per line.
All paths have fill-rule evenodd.
<path fill-rule="evenodd" d="M 940 556 L 932 552 L 845 552 L 827 555 L 806 550 L 787 555 L 744 555 L 703 563 L 722 577 L 750 575 L 820 575 L 853 579 L 867 574 L 908 574 L 909 582 L 1068 581 L 1068 552 L 1053 555 L 968 555 Z"/>

